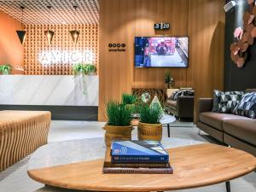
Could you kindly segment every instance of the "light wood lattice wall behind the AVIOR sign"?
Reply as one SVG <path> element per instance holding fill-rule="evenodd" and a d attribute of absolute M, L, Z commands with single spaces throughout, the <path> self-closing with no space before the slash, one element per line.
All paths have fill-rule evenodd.
<path fill-rule="evenodd" d="M 75 29 L 74 25 L 50 25 L 49 29 L 55 32 L 52 44 L 48 44 L 44 31 L 48 29 L 48 25 L 26 25 L 26 42 L 24 44 L 25 57 L 25 74 L 46 74 L 46 75 L 68 75 L 72 74 L 72 61 L 70 55 L 66 55 L 66 62 L 52 61 L 49 64 L 42 63 L 43 51 L 51 51 L 49 55 L 44 55 L 44 61 L 49 61 L 50 58 L 57 57 L 58 51 L 67 51 L 72 53 L 74 50 L 91 51 L 93 54 L 92 62 L 98 64 L 98 25 L 77 25 L 76 29 L 80 32 L 79 41 L 73 43 L 69 31 Z M 57 51 L 57 52 L 52 52 Z M 55 55 L 51 55 L 55 53 Z M 83 56 L 83 62 L 90 61 L 88 55 Z M 74 62 L 75 63 L 75 62 Z"/>

